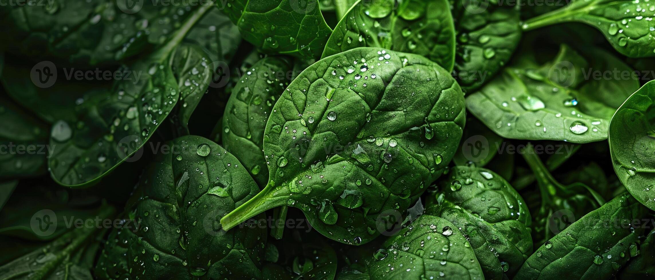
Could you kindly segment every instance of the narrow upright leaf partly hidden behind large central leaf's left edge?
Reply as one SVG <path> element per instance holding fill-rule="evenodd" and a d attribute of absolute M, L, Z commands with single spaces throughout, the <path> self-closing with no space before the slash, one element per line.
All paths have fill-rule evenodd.
<path fill-rule="evenodd" d="M 236 83 L 223 112 L 223 146 L 244 165 L 257 184 L 269 181 L 264 158 L 264 129 L 273 105 L 288 86 L 291 64 L 283 57 L 266 57 Z"/>

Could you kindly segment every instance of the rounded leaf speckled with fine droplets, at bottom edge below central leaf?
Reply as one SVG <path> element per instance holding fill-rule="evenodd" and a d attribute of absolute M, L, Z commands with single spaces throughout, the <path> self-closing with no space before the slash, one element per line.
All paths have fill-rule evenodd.
<path fill-rule="evenodd" d="M 463 232 L 429 213 L 386 240 L 367 263 L 371 279 L 484 279 Z"/>

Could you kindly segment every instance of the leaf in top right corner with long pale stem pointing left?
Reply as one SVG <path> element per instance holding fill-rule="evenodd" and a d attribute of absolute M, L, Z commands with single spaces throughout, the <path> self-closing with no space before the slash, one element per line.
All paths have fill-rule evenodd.
<path fill-rule="evenodd" d="M 617 52 L 627 57 L 650 57 L 655 55 L 652 16 L 649 3 L 572 0 L 567 7 L 531 18 L 521 27 L 529 31 L 556 23 L 582 22 L 601 31 Z"/>

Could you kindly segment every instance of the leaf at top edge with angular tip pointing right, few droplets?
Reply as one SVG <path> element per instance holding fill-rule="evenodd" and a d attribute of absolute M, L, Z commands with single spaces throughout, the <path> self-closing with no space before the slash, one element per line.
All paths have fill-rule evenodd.
<path fill-rule="evenodd" d="M 234 0 L 219 8 L 265 54 L 318 58 L 332 32 L 318 0 Z"/>

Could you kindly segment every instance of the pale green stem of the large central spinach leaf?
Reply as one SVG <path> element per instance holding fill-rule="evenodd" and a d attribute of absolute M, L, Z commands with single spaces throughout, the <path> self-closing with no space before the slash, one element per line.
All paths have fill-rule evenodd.
<path fill-rule="evenodd" d="M 250 200 L 221 218 L 223 230 L 230 230 L 230 228 L 245 222 L 263 211 L 286 205 L 286 201 L 290 197 L 290 193 L 286 190 L 288 190 L 286 187 L 280 187 L 280 190 L 276 190 L 269 182 L 255 197 L 250 198 Z"/>

